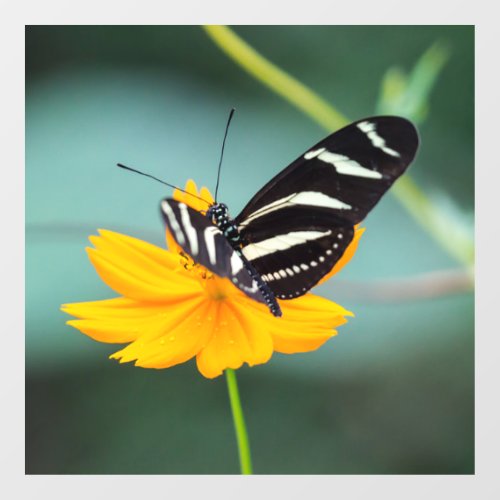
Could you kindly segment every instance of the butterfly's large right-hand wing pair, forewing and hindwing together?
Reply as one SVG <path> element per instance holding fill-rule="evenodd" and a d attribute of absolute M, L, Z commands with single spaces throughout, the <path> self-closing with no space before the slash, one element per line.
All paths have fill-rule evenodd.
<path fill-rule="evenodd" d="M 404 118 L 359 120 L 310 148 L 250 200 L 235 219 L 243 254 L 278 297 L 302 295 L 331 270 L 352 240 L 353 226 L 404 173 L 418 142 Z M 302 233 L 303 241 L 293 233 Z M 307 259 L 318 265 L 287 272 Z"/>

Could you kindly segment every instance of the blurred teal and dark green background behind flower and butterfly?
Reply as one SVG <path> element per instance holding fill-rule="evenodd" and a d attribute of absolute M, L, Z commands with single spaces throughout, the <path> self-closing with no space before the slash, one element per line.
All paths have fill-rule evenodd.
<path fill-rule="evenodd" d="M 472 238 L 473 27 L 234 29 L 352 120 L 379 112 L 390 68 L 410 71 L 440 41 L 448 58 L 410 173 Z M 236 215 L 325 130 L 200 27 L 26 28 L 26 473 L 239 472 L 223 377 L 204 379 L 194 361 L 119 365 L 108 359 L 119 345 L 59 310 L 116 296 L 84 250 L 98 228 L 165 245 L 169 192 L 115 164 L 213 190 L 231 107 L 219 197 Z M 238 371 L 255 473 L 472 474 L 474 296 L 460 279 L 433 286 L 463 265 L 394 196 L 363 225 L 354 259 L 316 289 L 356 317 L 316 352 Z"/>

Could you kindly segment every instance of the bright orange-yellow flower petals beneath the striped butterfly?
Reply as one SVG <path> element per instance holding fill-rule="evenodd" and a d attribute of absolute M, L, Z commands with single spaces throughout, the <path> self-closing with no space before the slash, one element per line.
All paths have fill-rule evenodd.
<path fill-rule="evenodd" d="M 198 193 L 193 181 L 186 191 L 212 202 L 206 188 Z M 178 190 L 174 198 L 196 210 L 206 204 Z M 352 257 L 354 240 L 328 277 Z M 280 301 L 283 317 L 247 297 L 220 278 L 181 255 L 167 232 L 170 250 L 112 231 L 91 236 L 87 248 L 101 279 L 122 297 L 64 304 L 78 319 L 68 321 L 100 342 L 128 343 L 111 355 L 121 363 L 144 368 L 168 368 L 196 356 L 198 370 L 208 378 L 226 368 L 269 361 L 273 351 L 293 354 L 313 351 L 337 334 L 352 313 L 308 293 Z M 327 277 L 325 277 L 326 279 Z"/>

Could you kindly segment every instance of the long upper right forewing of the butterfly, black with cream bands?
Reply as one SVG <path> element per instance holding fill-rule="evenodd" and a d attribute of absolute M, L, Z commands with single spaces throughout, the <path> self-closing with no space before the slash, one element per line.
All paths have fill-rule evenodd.
<path fill-rule="evenodd" d="M 265 216 L 282 217 L 296 207 L 319 207 L 355 225 L 406 170 L 415 156 L 418 135 L 404 118 L 384 116 L 354 122 L 322 140 L 269 181 L 246 205 L 236 222 L 244 237 Z"/>

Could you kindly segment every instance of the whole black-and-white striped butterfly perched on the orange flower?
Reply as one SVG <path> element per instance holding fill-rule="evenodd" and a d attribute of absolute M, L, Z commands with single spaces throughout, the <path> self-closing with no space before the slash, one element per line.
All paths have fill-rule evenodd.
<path fill-rule="evenodd" d="M 364 118 L 307 150 L 234 219 L 223 203 L 202 214 L 172 198 L 161 201 L 161 213 L 195 262 L 281 316 L 277 299 L 300 297 L 333 268 L 418 144 L 404 118 Z"/>

